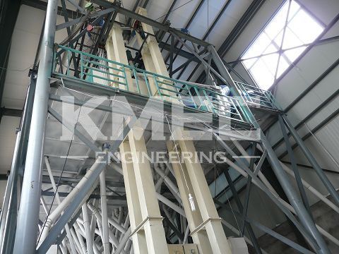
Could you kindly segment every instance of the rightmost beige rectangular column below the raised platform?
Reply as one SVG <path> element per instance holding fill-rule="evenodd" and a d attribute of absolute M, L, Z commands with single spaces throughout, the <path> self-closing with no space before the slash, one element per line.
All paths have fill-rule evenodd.
<path fill-rule="evenodd" d="M 198 162 L 193 141 L 182 135 L 179 138 L 179 146 L 183 153 L 191 152 L 193 155 L 191 159 L 184 157 L 184 162 L 196 197 L 195 201 L 203 219 L 203 223 L 191 234 L 196 234 L 205 227 L 213 254 L 231 253 L 225 231 L 222 229 L 221 219 L 210 194 L 205 174 L 203 174 L 203 168 Z"/>

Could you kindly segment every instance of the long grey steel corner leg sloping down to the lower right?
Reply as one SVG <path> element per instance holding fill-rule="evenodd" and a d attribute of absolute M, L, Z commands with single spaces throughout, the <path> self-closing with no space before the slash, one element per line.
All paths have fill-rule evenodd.
<path fill-rule="evenodd" d="M 234 84 L 234 80 L 232 79 L 230 73 L 228 73 L 224 63 L 222 63 L 222 60 L 220 59 L 218 53 L 215 51 L 215 48 L 213 46 L 208 46 L 208 49 L 213 56 L 213 61 L 215 62 L 215 65 L 220 71 L 220 74 L 222 75 L 223 78 L 225 78 L 225 80 L 227 80 L 228 85 L 230 85 L 230 87 L 233 88 L 232 92 L 234 92 L 234 95 L 237 95 L 239 97 L 239 100 L 242 102 L 244 111 L 246 111 L 246 115 L 249 116 L 249 120 L 254 125 L 254 128 L 259 129 L 260 128 L 259 124 L 254 118 L 254 115 L 249 110 L 249 107 L 246 105 L 246 102 L 244 102 L 244 99 L 242 99 L 241 95 L 237 91 L 237 87 Z M 309 231 L 309 234 L 311 234 L 312 238 L 314 238 L 314 241 L 316 241 L 317 245 L 320 248 L 320 253 L 330 253 L 328 247 L 326 246 L 326 242 L 323 240 L 323 237 L 319 233 L 319 230 L 316 228 L 314 220 L 311 218 L 302 200 L 300 200 L 297 193 L 295 193 L 295 189 L 290 183 L 290 180 L 288 179 L 287 174 L 283 170 L 283 167 L 281 167 L 280 161 L 278 157 L 275 155 L 275 152 L 273 151 L 263 131 L 261 131 L 261 146 L 263 146 L 263 148 L 266 149 L 270 165 L 272 166 L 275 175 L 277 176 L 281 186 L 283 187 L 283 190 L 285 191 L 288 200 L 290 201 L 291 205 L 295 208 L 295 212 L 297 213 L 300 222 L 302 222 L 304 228 L 307 231 Z"/>

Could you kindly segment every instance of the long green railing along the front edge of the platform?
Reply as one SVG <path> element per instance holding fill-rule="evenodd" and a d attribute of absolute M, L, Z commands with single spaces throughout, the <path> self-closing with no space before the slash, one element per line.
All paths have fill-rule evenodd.
<path fill-rule="evenodd" d="M 250 123 L 243 106 L 234 97 L 69 47 L 57 46 L 53 72 Z"/>

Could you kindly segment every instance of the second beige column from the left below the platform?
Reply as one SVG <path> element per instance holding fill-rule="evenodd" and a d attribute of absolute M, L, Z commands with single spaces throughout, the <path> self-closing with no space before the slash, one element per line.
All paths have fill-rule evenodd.
<path fill-rule="evenodd" d="M 162 225 L 162 216 L 155 195 L 150 162 L 142 159 L 142 154 L 147 154 L 145 139 L 143 138 L 143 128 L 134 127 L 129 132 L 129 144 L 133 158 L 133 167 L 136 175 L 136 188 L 138 188 L 138 198 L 141 206 L 141 222 L 145 230 L 145 238 L 148 253 L 168 253 L 165 230 Z M 133 233 L 132 233 L 133 234 Z"/>

